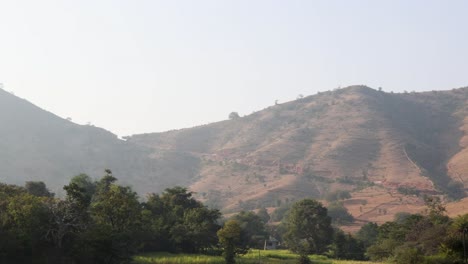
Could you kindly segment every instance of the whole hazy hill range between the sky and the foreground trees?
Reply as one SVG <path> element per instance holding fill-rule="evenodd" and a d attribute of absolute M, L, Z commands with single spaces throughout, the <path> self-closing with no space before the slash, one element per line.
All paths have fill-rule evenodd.
<path fill-rule="evenodd" d="M 423 194 L 465 196 L 467 99 L 468 88 L 352 86 L 123 141 L 0 90 L 0 181 L 42 180 L 56 191 L 73 175 L 110 168 L 141 194 L 188 186 L 225 212 L 348 190 L 355 217 L 381 222 L 421 210 Z"/>

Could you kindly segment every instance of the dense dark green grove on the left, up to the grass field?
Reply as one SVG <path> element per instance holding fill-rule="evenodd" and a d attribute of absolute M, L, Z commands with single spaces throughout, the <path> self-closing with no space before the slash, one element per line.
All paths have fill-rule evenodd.
<path fill-rule="evenodd" d="M 75 176 L 54 198 L 42 182 L 0 184 L 0 263 L 130 263 L 137 252 L 215 248 L 218 210 L 184 188 L 141 202 L 106 175 Z"/>

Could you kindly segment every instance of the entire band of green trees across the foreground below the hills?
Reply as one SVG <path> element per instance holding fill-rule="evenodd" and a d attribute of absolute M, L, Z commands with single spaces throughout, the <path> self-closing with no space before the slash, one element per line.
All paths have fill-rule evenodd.
<path fill-rule="evenodd" d="M 312 199 L 281 208 L 271 215 L 281 220 L 273 225 L 265 209 L 222 219 L 181 187 L 142 200 L 109 170 L 97 181 L 75 176 L 64 190 L 58 199 L 42 182 L 0 184 L 0 263 L 130 263 L 137 253 L 155 251 L 223 253 L 234 263 L 237 254 L 263 248 L 269 237 L 298 253 L 301 263 L 309 263 L 308 254 L 461 263 L 468 232 L 468 215 L 450 219 L 434 198 L 426 199 L 425 214 L 398 214 L 393 222 L 368 223 L 351 235 L 334 226 L 347 214 L 341 204 L 329 210 Z"/>

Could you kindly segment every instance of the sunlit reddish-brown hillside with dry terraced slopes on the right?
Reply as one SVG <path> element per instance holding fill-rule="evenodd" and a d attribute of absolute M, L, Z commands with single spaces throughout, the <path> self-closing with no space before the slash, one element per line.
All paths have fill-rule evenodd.
<path fill-rule="evenodd" d="M 465 196 L 467 99 L 466 88 L 394 94 L 353 86 L 128 141 L 199 159 L 191 190 L 226 212 L 348 190 L 353 215 L 382 222 L 398 210 L 418 212 L 424 194 Z"/>

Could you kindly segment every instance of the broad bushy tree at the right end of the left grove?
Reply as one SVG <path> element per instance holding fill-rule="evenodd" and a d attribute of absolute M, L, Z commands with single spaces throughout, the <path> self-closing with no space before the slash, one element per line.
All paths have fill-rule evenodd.
<path fill-rule="evenodd" d="M 151 194 L 144 203 L 152 237 L 147 250 L 198 253 L 217 243 L 220 212 L 195 200 L 186 188 Z"/>

